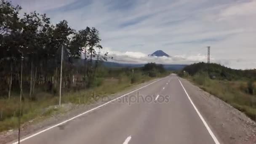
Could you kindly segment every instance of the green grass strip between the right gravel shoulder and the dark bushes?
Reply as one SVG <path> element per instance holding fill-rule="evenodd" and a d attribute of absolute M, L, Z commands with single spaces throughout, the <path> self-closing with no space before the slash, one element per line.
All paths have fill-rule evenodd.
<path fill-rule="evenodd" d="M 185 78 L 256 121 L 256 96 L 246 92 L 247 82 L 212 80 L 207 74 L 196 74 Z"/>

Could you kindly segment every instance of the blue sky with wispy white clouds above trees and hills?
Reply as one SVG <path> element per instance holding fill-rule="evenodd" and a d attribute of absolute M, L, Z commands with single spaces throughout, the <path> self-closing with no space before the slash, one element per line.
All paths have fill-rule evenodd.
<path fill-rule="evenodd" d="M 119 63 L 211 62 L 256 68 L 256 0 L 12 0 L 21 13 L 96 27 L 104 52 Z M 171 57 L 148 57 L 162 50 Z"/>

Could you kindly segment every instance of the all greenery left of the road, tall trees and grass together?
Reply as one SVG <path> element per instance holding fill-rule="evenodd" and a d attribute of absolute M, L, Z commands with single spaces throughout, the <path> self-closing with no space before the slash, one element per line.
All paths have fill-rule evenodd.
<path fill-rule="evenodd" d="M 62 104 L 88 104 L 168 74 L 156 64 L 133 70 L 106 68 L 104 61 L 112 57 L 102 53 L 96 28 L 76 31 L 66 20 L 53 25 L 45 14 L 20 16 L 20 11 L 21 6 L 0 0 L 0 131 L 17 128 L 20 104 L 21 123 L 63 112 L 53 107 L 58 105 L 60 81 Z"/>

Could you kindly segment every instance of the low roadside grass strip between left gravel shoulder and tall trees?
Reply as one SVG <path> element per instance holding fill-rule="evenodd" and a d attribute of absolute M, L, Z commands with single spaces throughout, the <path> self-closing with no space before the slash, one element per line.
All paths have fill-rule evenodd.
<path fill-rule="evenodd" d="M 160 76 L 163 77 L 166 75 Z M 131 76 L 121 74 L 117 78 L 110 77 L 99 81 L 100 84 L 96 84 L 94 88 L 65 92 L 61 97 L 61 103 L 91 104 L 104 96 L 111 96 L 116 92 L 132 88 L 136 84 L 157 78 L 141 74 L 136 74 L 135 77 L 136 80 L 131 83 Z M 27 99 L 28 96 L 24 94 L 21 125 L 29 121 L 38 122 L 51 115 L 66 112 L 61 107 L 57 107 L 59 104 L 59 96 L 38 92 L 35 97 L 36 100 Z M 10 100 L 0 99 L 0 132 L 19 127 L 19 101 L 18 95 L 12 96 Z"/>

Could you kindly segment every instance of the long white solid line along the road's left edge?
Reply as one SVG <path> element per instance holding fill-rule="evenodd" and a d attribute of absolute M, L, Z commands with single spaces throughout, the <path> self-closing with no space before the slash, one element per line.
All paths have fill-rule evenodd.
<path fill-rule="evenodd" d="M 159 79 L 159 80 L 156 80 L 156 81 L 154 81 L 154 82 L 152 82 L 152 83 L 149 83 L 149 84 L 147 84 L 147 85 L 144 85 L 144 86 L 142 86 L 141 88 L 145 88 L 145 87 L 147 87 L 147 86 L 149 86 L 149 85 L 151 85 L 151 84 L 153 84 L 153 83 L 156 83 L 156 82 L 158 82 L 158 81 L 160 81 L 160 80 L 163 80 L 164 78 L 165 78 L 165 77 L 163 77 L 163 78 L 161 78 L 161 79 Z M 27 140 L 27 139 L 30 139 L 30 138 L 32 138 L 32 137 L 34 137 L 34 136 L 36 136 L 36 135 L 38 135 L 38 134 L 40 134 L 40 133 L 43 133 L 43 132 L 45 132 L 45 131 L 50 130 L 50 129 L 52 129 L 52 128 L 55 128 L 56 126 L 62 125 L 62 124 L 64 124 L 64 123 L 67 123 L 68 121 L 73 120 L 73 119 L 75 119 L 75 118 L 77 118 L 77 117 L 80 117 L 80 116 L 82 116 L 82 115 L 85 115 L 85 114 L 87 114 L 88 112 L 91 112 L 91 111 L 93 111 L 93 110 L 95 110 L 95 109 L 98 109 L 98 108 L 104 106 L 104 105 L 107 105 L 107 104 L 111 103 L 112 101 L 115 101 L 115 100 L 117 100 L 117 99 L 120 99 L 120 98 L 122 98 L 123 96 L 126 96 L 126 95 L 128 95 L 128 94 L 130 94 L 130 93 L 133 93 L 133 92 L 135 92 L 135 91 L 138 91 L 138 90 L 140 90 L 141 88 L 138 88 L 138 89 L 136 89 L 136 90 L 134 90 L 134 91 L 131 91 L 131 92 L 129 92 L 129 93 L 126 93 L 126 94 L 124 94 L 124 95 L 122 95 L 122 96 L 119 96 L 118 98 L 115 98 L 115 99 L 113 99 L 113 100 L 111 100 L 111 101 L 108 101 L 108 102 L 105 103 L 105 104 L 102 104 L 102 105 L 100 105 L 100 106 L 98 106 L 98 107 L 95 107 L 95 108 L 90 109 L 90 110 L 88 110 L 88 111 L 86 111 L 86 112 L 83 112 L 83 113 L 81 113 L 81 114 L 79 114 L 79 115 L 77 115 L 77 116 L 75 116 L 75 117 L 72 117 L 72 118 L 70 118 L 70 119 L 68 119 L 68 120 L 65 120 L 65 121 L 63 121 L 63 122 L 61 122 L 61 123 L 59 123 L 59 124 L 53 125 L 53 126 L 51 126 L 50 128 L 46 128 L 46 129 L 43 130 L 43 131 L 39 131 L 39 132 L 37 132 L 37 133 L 35 133 L 35 134 L 31 135 L 31 136 L 28 136 L 28 137 L 26 137 L 26 138 L 24 138 L 24 139 L 21 139 L 20 142 L 25 141 L 25 140 Z M 18 141 L 14 142 L 13 144 L 18 144 Z"/>

